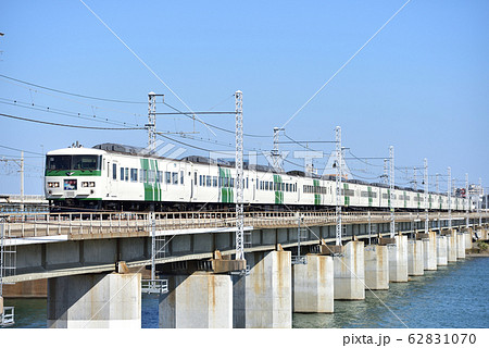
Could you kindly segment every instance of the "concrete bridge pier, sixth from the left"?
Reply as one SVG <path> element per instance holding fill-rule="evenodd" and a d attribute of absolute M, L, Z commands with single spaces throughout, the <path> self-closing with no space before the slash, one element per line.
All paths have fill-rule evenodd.
<path fill-rule="evenodd" d="M 387 246 L 365 247 L 365 287 L 371 290 L 389 289 L 389 253 Z"/>

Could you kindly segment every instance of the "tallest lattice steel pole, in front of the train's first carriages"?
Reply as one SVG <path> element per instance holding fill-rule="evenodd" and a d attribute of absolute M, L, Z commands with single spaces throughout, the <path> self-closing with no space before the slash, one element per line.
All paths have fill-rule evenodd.
<path fill-rule="evenodd" d="M 242 91 L 235 92 L 236 107 L 236 260 L 244 260 L 243 216 L 243 145 L 242 145 Z"/>

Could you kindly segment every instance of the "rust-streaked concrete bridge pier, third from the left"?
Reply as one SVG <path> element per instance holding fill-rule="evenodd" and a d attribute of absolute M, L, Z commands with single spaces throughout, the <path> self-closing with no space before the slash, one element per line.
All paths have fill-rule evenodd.
<path fill-rule="evenodd" d="M 247 253 L 250 273 L 233 277 L 234 327 L 292 327 L 290 251 Z"/>

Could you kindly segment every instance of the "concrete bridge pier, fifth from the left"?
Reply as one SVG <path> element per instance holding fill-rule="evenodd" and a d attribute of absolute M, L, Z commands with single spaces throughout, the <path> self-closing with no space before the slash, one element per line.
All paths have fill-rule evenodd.
<path fill-rule="evenodd" d="M 365 299 L 365 258 L 363 241 L 349 241 L 343 256 L 335 257 L 335 300 Z"/>

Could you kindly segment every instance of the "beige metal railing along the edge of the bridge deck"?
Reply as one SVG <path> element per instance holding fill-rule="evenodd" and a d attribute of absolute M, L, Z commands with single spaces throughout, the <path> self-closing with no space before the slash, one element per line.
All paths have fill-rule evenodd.
<path fill-rule="evenodd" d="M 336 223 L 336 213 L 301 212 L 305 226 L 330 225 Z M 465 213 L 452 213 L 452 219 L 465 219 Z M 484 217 L 489 216 L 482 213 Z M 97 213 L 15 213 L 3 215 L 7 220 L 7 237 L 38 237 L 67 235 L 68 238 L 111 238 L 116 236 L 148 236 L 151 233 L 150 214 L 145 212 L 97 212 Z M 469 213 L 471 219 L 478 219 L 478 213 Z M 235 212 L 156 212 L 154 213 L 156 231 L 189 231 L 200 228 L 229 228 L 236 226 Z M 396 221 L 424 221 L 425 214 L 396 213 Z M 430 213 L 430 221 L 447 220 L 447 213 Z M 342 222 L 387 223 L 388 212 L 343 212 Z M 293 227 L 298 225 L 298 215 L 293 211 L 246 212 L 244 226 L 253 228 Z"/>

